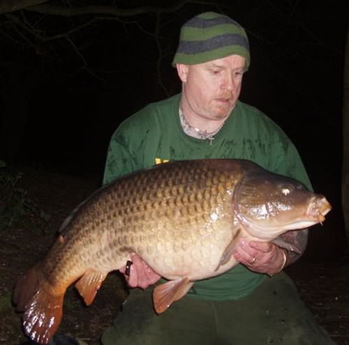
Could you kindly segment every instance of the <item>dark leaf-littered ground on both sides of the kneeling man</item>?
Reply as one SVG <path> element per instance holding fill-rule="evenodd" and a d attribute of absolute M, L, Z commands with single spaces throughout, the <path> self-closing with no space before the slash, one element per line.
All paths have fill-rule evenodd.
<path fill-rule="evenodd" d="M 77 178 L 28 167 L 0 172 L 0 344 L 20 344 L 20 314 L 11 305 L 17 277 L 40 259 L 66 215 L 100 183 L 96 176 Z M 6 170 L 5 170 L 6 169 Z M 17 181 L 15 176 L 22 172 Z M 349 262 L 301 259 L 288 273 L 318 323 L 334 342 L 349 344 Z M 70 287 L 59 332 L 97 345 L 102 330 L 126 297 L 124 282 L 110 274 L 90 307 Z"/>

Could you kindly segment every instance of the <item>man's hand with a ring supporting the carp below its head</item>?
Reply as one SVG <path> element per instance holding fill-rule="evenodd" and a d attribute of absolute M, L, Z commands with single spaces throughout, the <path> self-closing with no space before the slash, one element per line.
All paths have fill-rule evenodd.
<path fill-rule="evenodd" d="M 235 247 L 234 257 L 239 263 L 257 273 L 276 275 L 285 266 L 285 252 L 271 242 L 241 240 Z"/>

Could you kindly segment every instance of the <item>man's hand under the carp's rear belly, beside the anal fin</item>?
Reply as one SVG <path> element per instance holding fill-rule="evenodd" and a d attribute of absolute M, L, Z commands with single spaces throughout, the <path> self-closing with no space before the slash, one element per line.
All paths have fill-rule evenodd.
<path fill-rule="evenodd" d="M 156 283 L 161 278 L 137 254 L 132 254 L 131 260 L 132 263 L 129 264 L 127 269 L 126 266 L 120 268 L 120 272 L 124 273 L 128 286 L 147 289 L 149 285 Z"/>

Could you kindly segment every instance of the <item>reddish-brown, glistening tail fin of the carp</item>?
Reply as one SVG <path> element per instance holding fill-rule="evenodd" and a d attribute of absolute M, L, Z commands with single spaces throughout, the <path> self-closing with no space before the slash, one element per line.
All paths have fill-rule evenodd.
<path fill-rule="evenodd" d="M 21 277 L 13 292 L 13 302 L 22 316 L 24 332 L 34 342 L 47 344 L 61 323 L 64 293 L 55 296 L 38 266 Z"/>

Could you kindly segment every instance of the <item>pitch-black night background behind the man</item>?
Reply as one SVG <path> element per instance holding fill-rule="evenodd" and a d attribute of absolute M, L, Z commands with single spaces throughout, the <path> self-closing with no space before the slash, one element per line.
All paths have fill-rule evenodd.
<path fill-rule="evenodd" d="M 311 229 L 308 255 L 342 257 L 348 1 L 186 1 L 170 10 L 178 2 L 49 2 L 169 9 L 130 16 L 64 17 L 27 10 L 0 15 L 0 159 L 101 178 L 107 144 L 119 123 L 180 91 L 171 61 L 181 25 L 207 10 L 222 12 L 242 24 L 250 40 L 251 68 L 240 99 L 283 128 L 314 190 L 334 206 L 324 227 Z"/>

